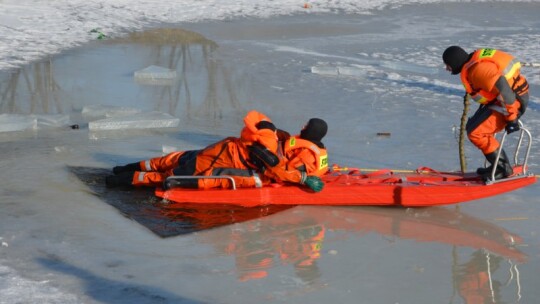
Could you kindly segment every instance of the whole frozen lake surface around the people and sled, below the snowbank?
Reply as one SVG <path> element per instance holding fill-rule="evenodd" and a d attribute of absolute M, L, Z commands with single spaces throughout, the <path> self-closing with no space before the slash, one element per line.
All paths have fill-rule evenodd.
<path fill-rule="evenodd" d="M 0 303 L 536 303 L 538 184 L 444 208 L 168 210 L 96 172 L 238 135 L 251 109 L 292 133 L 325 119 L 331 163 L 459 170 L 463 92 L 441 54 L 495 47 L 538 62 L 538 11 L 438 3 L 160 24 L 5 70 L 0 114 L 23 122 L 3 128 L 59 120 L 0 132 Z M 135 79 L 152 65 L 176 77 Z M 540 69 L 523 73 L 538 174 Z M 179 123 L 89 130 L 115 111 Z M 482 164 L 469 143 L 466 154 Z"/>

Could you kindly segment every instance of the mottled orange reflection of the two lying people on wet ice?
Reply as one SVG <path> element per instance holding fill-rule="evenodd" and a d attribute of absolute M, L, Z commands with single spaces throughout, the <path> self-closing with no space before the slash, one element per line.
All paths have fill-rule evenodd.
<path fill-rule="evenodd" d="M 292 265 L 306 284 L 315 284 L 321 276 L 317 260 L 326 229 L 311 219 L 295 218 L 279 225 L 251 221 L 243 223 L 242 229 L 220 231 L 205 234 L 212 238 L 207 241 L 214 245 L 227 242 L 216 250 L 234 256 L 239 281 L 265 278 L 279 264 Z"/>

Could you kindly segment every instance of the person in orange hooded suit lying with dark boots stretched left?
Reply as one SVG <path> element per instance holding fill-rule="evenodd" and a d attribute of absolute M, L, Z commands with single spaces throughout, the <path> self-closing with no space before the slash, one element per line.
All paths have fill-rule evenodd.
<path fill-rule="evenodd" d="M 106 177 L 106 185 L 228 189 L 231 184 L 226 178 L 175 179 L 165 182 L 171 175 L 227 175 L 233 177 L 237 187 L 262 187 L 272 182 L 264 174 L 268 171 L 268 174 L 272 172 L 274 175 L 271 176 L 279 177 L 281 181 L 303 184 L 315 192 L 322 190 L 323 182 L 318 176 L 294 174 L 291 173 L 294 170 L 276 168 L 283 163 L 277 156 L 276 127 L 267 116 L 251 111 L 244 118 L 244 123 L 240 138 L 228 137 L 201 150 L 178 151 L 114 167 L 114 175 Z M 268 168 L 275 168 L 275 171 Z"/>

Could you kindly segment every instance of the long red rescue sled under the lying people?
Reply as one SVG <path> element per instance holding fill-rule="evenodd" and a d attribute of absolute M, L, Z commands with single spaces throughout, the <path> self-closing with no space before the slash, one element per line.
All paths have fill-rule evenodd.
<path fill-rule="evenodd" d="M 223 177 L 221 177 L 223 178 Z M 513 191 L 536 181 L 514 167 L 514 175 L 484 182 L 476 173 L 437 172 L 429 168 L 396 173 L 379 170 L 334 170 L 322 177 L 324 189 L 314 193 L 297 185 L 275 184 L 262 188 L 156 190 L 156 195 L 176 203 L 261 205 L 404 206 L 426 207 L 455 204 Z"/>

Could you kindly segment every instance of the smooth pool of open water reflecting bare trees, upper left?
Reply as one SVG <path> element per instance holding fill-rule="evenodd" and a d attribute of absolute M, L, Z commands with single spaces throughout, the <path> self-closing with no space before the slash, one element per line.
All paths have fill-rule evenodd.
<path fill-rule="evenodd" d="M 126 47 L 134 50 L 129 56 L 125 54 Z M 65 114 L 77 124 L 94 120 L 94 116 L 106 118 L 120 112 L 158 111 L 214 122 L 230 111 L 243 114 L 245 109 L 239 103 L 233 77 L 221 62 L 212 59 L 217 47 L 198 33 L 178 28 L 151 29 L 107 39 L 79 55 L 84 60 L 73 60 L 71 54 L 64 54 L 0 75 L 0 113 Z M 95 68 L 96 64 L 106 68 Z M 81 114 L 86 121 L 77 120 Z M 5 128 L 35 129 L 33 123 L 17 120 Z M 174 124 L 161 121 L 152 127 Z M 121 127 L 113 122 L 92 126 Z"/>

